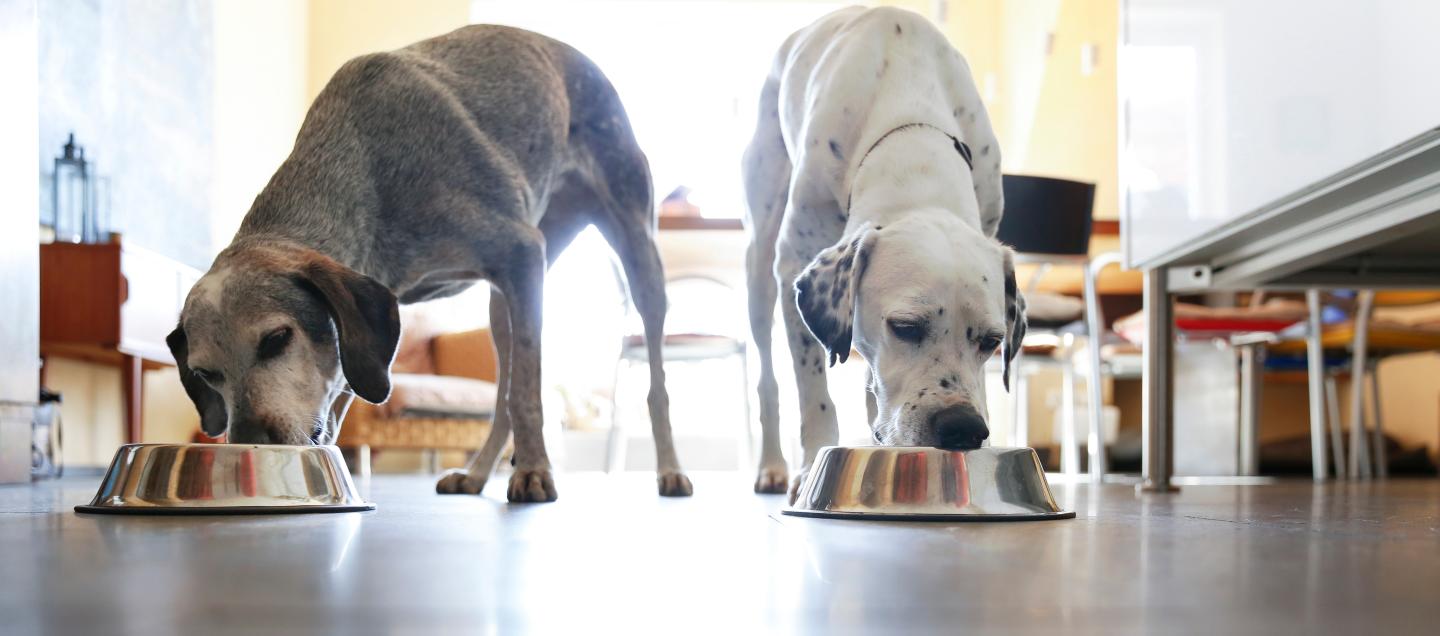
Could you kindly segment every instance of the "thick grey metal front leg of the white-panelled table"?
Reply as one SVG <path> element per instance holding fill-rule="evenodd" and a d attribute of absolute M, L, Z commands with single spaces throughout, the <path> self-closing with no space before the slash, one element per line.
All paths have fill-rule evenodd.
<path fill-rule="evenodd" d="M 1174 492 L 1175 459 L 1174 364 L 1175 319 L 1165 269 L 1145 271 L 1145 377 L 1140 492 Z"/>

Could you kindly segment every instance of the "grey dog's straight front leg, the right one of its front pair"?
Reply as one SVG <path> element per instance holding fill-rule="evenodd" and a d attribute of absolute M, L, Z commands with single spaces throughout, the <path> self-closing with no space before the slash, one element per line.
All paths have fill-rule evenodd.
<path fill-rule="evenodd" d="M 516 436 L 516 472 L 507 496 L 514 502 L 554 501 L 550 458 L 544 450 L 540 409 L 540 322 L 544 298 L 544 240 L 539 232 L 517 236 L 497 276 L 510 314 L 510 374 L 505 407 Z M 533 240 L 527 240 L 533 239 Z"/>

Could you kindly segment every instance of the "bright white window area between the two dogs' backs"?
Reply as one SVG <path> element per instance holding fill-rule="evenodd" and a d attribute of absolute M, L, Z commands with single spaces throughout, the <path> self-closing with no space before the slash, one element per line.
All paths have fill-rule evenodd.
<path fill-rule="evenodd" d="M 547 35 L 615 85 L 655 177 L 706 217 L 740 217 L 740 157 L 780 43 L 844 4 L 809 1 L 475 0 L 472 23 Z M 739 37 L 737 37 L 739 35 Z"/>

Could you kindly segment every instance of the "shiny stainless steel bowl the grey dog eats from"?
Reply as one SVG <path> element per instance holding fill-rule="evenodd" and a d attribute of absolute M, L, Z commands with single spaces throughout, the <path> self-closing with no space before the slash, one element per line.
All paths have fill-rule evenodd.
<path fill-rule="evenodd" d="M 334 446 L 132 443 L 76 512 L 252 515 L 374 509 Z"/>

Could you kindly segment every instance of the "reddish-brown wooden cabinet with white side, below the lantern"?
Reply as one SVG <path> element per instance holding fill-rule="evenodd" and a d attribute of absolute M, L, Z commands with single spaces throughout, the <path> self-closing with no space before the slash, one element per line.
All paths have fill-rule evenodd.
<path fill-rule="evenodd" d="M 40 246 L 40 355 L 118 365 L 131 443 L 144 430 L 144 371 L 174 365 L 166 335 L 199 278 L 121 242 Z"/>

